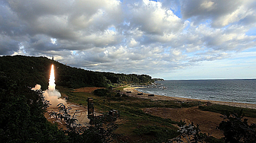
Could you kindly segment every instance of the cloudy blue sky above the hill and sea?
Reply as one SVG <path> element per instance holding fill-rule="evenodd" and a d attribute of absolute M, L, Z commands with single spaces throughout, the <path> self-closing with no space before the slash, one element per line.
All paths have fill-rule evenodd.
<path fill-rule="evenodd" d="M 164 79 L 256 78 L 255 0 L 0 0 L 0 56 Z"/>

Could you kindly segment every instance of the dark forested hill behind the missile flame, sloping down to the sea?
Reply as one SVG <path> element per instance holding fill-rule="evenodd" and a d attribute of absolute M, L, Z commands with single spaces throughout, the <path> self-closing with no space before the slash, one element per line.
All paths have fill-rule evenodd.
<path fill-rule="evenodd" d="M 0 56 L 0 74 L 30 87 L 41 84 L 45 90 L 52 63 L 56 84 L 63 87 L 108 87 L 111 84 L 140 84 L 152 81 L 149 75 L 87 71 L 63 65 L 46 57 L 33 56 Z"/>

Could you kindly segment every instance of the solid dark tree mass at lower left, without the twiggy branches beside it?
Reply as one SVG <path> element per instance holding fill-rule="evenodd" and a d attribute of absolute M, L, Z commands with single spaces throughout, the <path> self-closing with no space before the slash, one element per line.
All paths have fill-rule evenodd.
<path fill-rule="evenodd" d="M 31 91 L 0 74 L 0 142 L 64 141 L 66 135 L 44 117 L 47 101 L 40 91 Z"/>

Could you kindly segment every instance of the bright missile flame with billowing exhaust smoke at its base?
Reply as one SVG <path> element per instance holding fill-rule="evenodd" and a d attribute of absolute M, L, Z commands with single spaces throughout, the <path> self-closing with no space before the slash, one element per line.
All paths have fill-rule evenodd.
<path fill-rule="evenodd" d="M 61 94 L 59 91 L 55 89 L 55 76 L 54 76 L 54 67 L 53 65 L 51 66 L 50 70 L 50 79 L 49 79 L 49 86 L 46 91 L 43 91 L 44 99 L 50 101 L 50 107 L 54 108 L 56 107 L 59 103 L 66 104 L 66 100 L 63 100 L 61 97 Z M 36 84 L 34 88 L 31 90 L 41 90 L 41 85 Z"/>

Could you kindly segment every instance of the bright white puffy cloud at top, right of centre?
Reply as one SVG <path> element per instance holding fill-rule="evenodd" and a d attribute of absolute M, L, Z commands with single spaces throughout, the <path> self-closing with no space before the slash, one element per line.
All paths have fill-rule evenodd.
<path fill-rule="evenodd" d="M 173 11 L 162 7 L 160 2 L 144 0 L 138 5 L 128 5 L 128 8 L 131 26 L 145 33 L 163 35 L 180 30 L 183 26 L 180 18 Z"/>

